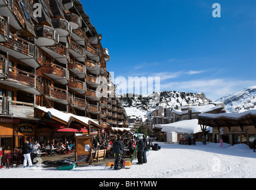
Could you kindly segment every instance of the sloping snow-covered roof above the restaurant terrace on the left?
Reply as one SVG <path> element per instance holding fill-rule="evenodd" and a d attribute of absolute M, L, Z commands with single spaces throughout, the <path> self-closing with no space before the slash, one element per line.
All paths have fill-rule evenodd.
<path fill-rule="evenodd" d="M 78 116 L 78 115 L 74 115 L 72 113 L 64 113 L 64 112 L 61 112 L 54 108 L 46 108 L 46 107 L 41 107 L 41 106 L 36 106 L 36 108 L 39 110 L 42 110 L 43 112 L 50 112 L 52 116 L 54 116 L 55 118 L 61 119 L 61 121 L 64 121 L 66 123 L 69 123 L 70 118 L 73 117 L 87 125 L 90 125 L 89 121 L 98 125 L 98 122 L 94 121 L 91 118 L 87 118 L 85 116 Z M 98 125 L 98 126 L 100 126 L 100 125 Z"/>

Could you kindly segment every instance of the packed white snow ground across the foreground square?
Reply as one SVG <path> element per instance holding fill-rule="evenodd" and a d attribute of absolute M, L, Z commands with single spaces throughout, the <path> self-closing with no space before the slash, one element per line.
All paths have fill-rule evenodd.
<path fill-rule="evenodd" d="M 164 144 L 147 152 L 147 163 L 113 170 L 105 165 L 72 170 L 22 166 L 0 170 L 0 178 L 256 178 L 256 153 L 245 144 Z"/>

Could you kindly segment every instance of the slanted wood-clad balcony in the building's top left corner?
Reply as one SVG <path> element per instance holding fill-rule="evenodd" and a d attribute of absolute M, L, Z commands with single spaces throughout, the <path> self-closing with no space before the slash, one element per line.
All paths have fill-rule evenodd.
<path fill-rule="evenodd" d="M 10 24 L 16 30 L 24 30 L 25 20 L 15 0 L 0 0 L 0 12 L 2 16 L 10 18 Z"/>

